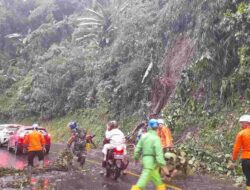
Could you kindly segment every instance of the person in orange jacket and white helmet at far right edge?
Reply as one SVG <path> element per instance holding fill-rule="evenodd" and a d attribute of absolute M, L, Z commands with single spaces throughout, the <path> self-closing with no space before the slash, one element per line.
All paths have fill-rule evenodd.
<path fill-rule="evenodd" d="M 247 190 L 250 190 L 250 115 L 241 116 L 239 121 L 242 130 L 236 136 L 232 159 L 236 161 L 241 150 L 242 171 L 246 176 Z M 233 163 L 232 167 L 235 166 Z"/>

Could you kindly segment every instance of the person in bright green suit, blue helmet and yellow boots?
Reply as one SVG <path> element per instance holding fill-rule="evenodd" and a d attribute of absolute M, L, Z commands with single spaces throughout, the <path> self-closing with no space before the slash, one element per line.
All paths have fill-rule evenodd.
<path fill-rule="evenodd" d="M 142 156 L 143 171 L 136 185 L 133 185 L 131 190 L 145 189 L 149 181 L 153 182 L 156 190 L 165 190 L 165 184 L 161 180 L 159 169 L 161 168 L 165 175 L 169 175 L 169 171 L 163 157 L 160 138 L 156 133 L 158 126 L 156 119 L 150 119 L 148 132 L 142 136 L 136 145 L 134 159 L 138 161 L 140 156 Z"/>

